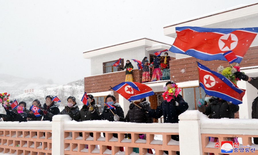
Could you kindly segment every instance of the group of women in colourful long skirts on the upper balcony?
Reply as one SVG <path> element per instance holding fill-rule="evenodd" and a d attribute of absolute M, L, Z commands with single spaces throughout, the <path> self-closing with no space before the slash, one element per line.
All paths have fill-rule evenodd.
<path fill-rule="evenodd" d="M 142 59 L 142 83 L 145 82 L 153 82 L 159 80 L 170 80 L 170 70 L 169 70 L 169 61 L 170 56 L 168 56 L 168 52 L 164 53 L 165 56 L 161 59 L 161 56 L 154 56 L 153 63 L 148 61 L 148 57 L 144 57 Z M 165 66 L 161 66 L 161 64 Z M 133 71 L 134 66 L 129 60 L 126 60 L 126 64 L 124 67 L 120 67 L 120 69 L 126 69 L 126 78 L 125 82 L 133 82 Z M 150 68 L 152 69 L 152 77 L 150 77 Z M 161 71 L 162 69 L 162 71 Z"/>

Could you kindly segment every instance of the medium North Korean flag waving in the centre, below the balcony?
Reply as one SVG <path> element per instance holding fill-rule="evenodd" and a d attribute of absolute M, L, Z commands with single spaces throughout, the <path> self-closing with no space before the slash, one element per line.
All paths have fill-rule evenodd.
<path fill-rule="evenodd" d="M 154 95 L 153 90 L 149 86 L 138 82 L 122 82 L 112 89 L 130 102 Z"/>

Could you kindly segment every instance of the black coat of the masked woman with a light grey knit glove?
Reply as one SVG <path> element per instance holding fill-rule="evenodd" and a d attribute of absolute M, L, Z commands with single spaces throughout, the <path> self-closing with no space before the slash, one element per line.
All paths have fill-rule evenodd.
<path fill-rule="evenodd" d="M 114 114 L 117 114 L 119 117 L 124 118 L 124 111 L 120 107 L 120 104 L 119 103 L 115 103 L 112 106 L 116 107 L 116 110 L 115 109 L 111 109 L 112 112 L 114 112 Z M 100 120 L 108 120 L 110 122 L 113 122 L 114 121 L 114 114 L 112 112 L 110 111 L 109 108 L 107 108 L 107 106 L 105 106 L 102 114 L 99 116 Z"/>

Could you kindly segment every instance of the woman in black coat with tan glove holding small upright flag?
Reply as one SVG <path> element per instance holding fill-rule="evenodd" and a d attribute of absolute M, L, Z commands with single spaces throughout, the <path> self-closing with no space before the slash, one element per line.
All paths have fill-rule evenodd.
<path fill-rule="evenodd" d="M 101 108 L 100 105 L 95 104 L 95 99 L 93 95 L 89 94 L 88 97 L 90 98 L 91 106 L 86 106 L 85 104 L 80 110 L 81 113 L 81 122 L 82 121 L 89 121 L 89 120 L 99 120 L 99 108 Z M 89 101 L 87 101 L 89 102 Z"/>

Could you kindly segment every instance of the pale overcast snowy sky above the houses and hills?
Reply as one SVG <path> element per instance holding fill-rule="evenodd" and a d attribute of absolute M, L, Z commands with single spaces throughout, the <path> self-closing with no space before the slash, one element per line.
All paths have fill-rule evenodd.
<path fill-rule="evenodd" d="M 87 49 L 141 36 L 172 42 L 166 24 L 256 2 L 0 0 L 1 73 L 65 84 L 90 75 Z"/>

